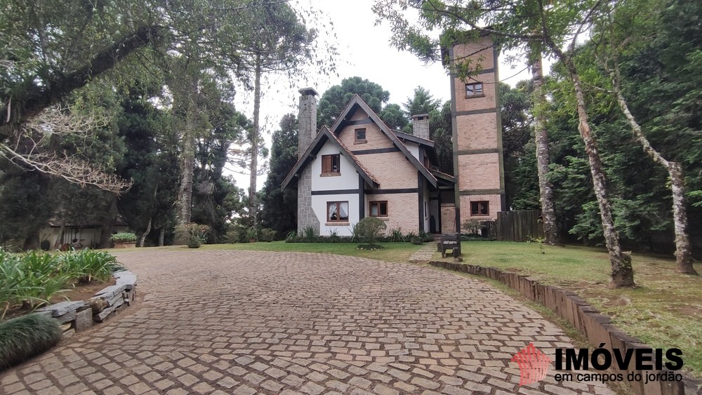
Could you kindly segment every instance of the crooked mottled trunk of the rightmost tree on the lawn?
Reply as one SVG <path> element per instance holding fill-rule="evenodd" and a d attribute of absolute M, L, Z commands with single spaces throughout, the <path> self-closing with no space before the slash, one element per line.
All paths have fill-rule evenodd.
<path fill-rule="evenodd" d="M 612 86 L 621 111 L 624 113 L 626 120 L 631 126 L 634 137 L 640 142 L 642 149 L 646 152 L 654 162 L 661 164 L 668 170 L 670 177 L 670 190 L 673 193 L 673 223 L 675 226 L 675 259 L 677 260 L 677 272 L 682 274 L 697 275 L 692 266 L 692 248 L 690 246 L 690 238 L 687 234 L 687 209 L 685 208 L 685 179 L 682 175 L 682 166 L 677 162 L 670 162 L 663 158 L 660 152 L 651 147 L 651 143 L 641 130 L 641 126 L 629 111 L 629 106 L 621 92 L 619 86 L 619 69 L 615 65 L 615 69 L 610 72 Z"/>

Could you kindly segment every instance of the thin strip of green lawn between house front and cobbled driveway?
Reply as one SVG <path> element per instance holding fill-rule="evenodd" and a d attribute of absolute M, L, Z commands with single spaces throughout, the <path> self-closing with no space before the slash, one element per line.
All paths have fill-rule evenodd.
<path fill-rule="evenodd" d="M 324 253 L 348 255 L 352 257 L 365 257 L 388 262 L 407 262 L 421 246 L 411 243 L 378 243 L 383 246 L 381 250 L 359 250 L 357 243 L 285 243 L 273 241 L 272 243 L 236 243 L 236 244 L 208 244 L 201 250 L 253 250 L 253 251 L 289 251 L 293 253 Z M 176 248 L 183 248 L 178 246 Z"/>

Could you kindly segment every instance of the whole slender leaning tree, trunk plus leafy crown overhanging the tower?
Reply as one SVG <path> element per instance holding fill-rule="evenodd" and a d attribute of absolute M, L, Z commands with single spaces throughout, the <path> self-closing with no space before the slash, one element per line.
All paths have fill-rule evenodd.
<path fill-rule="evenodd" d="M 407 7 L 418 11 L 420 25 L 409 23 L 404 15 Z M 592 133 L 588 102 L 574 56 L 576 44 L 597 18 L 609 12 L 599 0 L 542 1 L 441 1 L 383 0 L 373 11 L 381 20 L 388 20 L 394 36 L 392 43 L 409 49 L 426 60 L 440 60 L 440 48 L 447 48 L 477 34 L 491 34 L 502 48 L 526 52 L 529 43 L 541 44 L 542 51 L 552 55 L 566 67 L 576 96 L 578 131 L 588 156 L 592 185 L 600 208 L 604 241 L 611 262 L 611 286 L 633 287 L 631 259 L 622 253 L 619 235 L 612 217 L 607 178 Z M 438 30 L 439 39 L 428 32 Z M 458 68 L 470 74 L 470 63 L 458 60 Z"/>

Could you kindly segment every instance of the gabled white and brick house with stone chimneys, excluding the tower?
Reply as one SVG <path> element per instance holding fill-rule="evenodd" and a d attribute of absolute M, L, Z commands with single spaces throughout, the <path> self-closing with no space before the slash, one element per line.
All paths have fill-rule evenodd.
<path fill-rule="evenodd" d="M 331 128 L 317 132 L 317 92 L 300 94 L 298 162 L 282 185 L 297 185 L 298 232 L 350 236 L 366 216 L 385 221 L 388 232 L 453 229 L 442 220 L 442 205 L 453 206 L 453 177 L 435 170 L 426 114 L 415 116 L 409 135 L 388 128 L 355 95 Z"/>

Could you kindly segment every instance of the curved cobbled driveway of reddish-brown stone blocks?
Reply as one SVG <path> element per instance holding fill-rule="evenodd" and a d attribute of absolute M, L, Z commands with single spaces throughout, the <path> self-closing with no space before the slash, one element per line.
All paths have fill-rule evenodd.
<path fill-rule="evenodd" d="M 0 373 L 1 394 L 611 394 L 552 368 L 519 387 L 512 354 L 534 342 L 553 359 L 571 340 L 451 272 L 223 250 L 119 261 L 137 307 Z"/>

